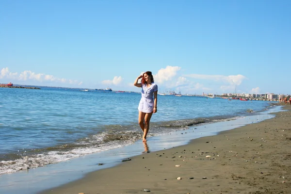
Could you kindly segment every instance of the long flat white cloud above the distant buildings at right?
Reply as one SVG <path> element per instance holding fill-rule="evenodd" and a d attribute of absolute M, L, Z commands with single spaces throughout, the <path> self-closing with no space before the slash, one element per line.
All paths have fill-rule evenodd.
<path fill-rule="evenodd" d="M 203 75 L 203 74 L 190 74 L 185 77 L 200 79 L 200 80 L 212 80 L 212 81 L 223 81 L 232 85 L 240 85 L 244 79 L 247 79 L 243 75 L 236 76 L 222 76 L 222 75 Z"/>

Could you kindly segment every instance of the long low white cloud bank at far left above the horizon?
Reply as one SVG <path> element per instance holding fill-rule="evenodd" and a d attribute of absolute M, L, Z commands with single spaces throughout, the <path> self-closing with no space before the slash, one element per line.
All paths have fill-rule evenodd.
<path fill-rule="evenodd" d="M 32 71 L 23 71 L 19 75 L 18 73 L 12 73 L 9 71 L 8 67 L 2 68 L 0 73 L 0 79 L 12 79 L 12 80 L 18 80 L 18 81 L 28 81 L 28 80 L 34 80 L 34 81 L 53 81 L 53 82 L 62 82 L 62 83 L 69 83 L 69 84 L 80 84 L 82 82 L 77 80 L 66 80 L 65 78 L 56 78 L 52 75 L 46 75 L 43 73 L 34 73 Z"/>

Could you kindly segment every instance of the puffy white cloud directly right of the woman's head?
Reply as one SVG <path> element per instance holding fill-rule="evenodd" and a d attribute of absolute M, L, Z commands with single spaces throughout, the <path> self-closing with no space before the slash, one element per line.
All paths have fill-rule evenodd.
<path fill-rule="evenodd" d="M 163 83 L 164 81 L 170 81 L 177 75 L 180 69 L 181 67 L 178 66 L 166 66 L 166 68 L 160 69 L 158 73 L 154 75 L 155 82 Z"/>

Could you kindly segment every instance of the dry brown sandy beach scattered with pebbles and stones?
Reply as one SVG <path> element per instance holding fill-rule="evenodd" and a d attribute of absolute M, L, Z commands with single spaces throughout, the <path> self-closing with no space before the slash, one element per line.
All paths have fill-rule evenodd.
<path fill-rule="evenodd" d="M 132 157 L 41 194 L 291 194 L 290 108 L 185 146 Z"/>

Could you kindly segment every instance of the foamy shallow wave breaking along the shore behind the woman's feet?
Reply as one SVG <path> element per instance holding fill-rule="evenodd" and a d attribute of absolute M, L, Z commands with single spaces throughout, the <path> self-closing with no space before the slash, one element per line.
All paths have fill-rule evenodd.
<path fill-rule="evenodd" d="M 231 120 L 235 118 L 213 117 L 198 119 L 183 119 L 159 123 L 151 123 L 148 137 L 169 134 L 189 126 Z M 41 149 L 23 150 L 17 154 L 11 153 L 0 158 L 0 174 L 13 173 L 19 170 L 46 166 L 52 163 L 67 161 L 90 153 L 106 151 L 133 144 L 142 139 L 143 132 L 139 126 L 108 125 L 103 132 L 89 135 L 74 143 L 46 147 Z"/>

